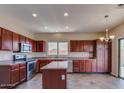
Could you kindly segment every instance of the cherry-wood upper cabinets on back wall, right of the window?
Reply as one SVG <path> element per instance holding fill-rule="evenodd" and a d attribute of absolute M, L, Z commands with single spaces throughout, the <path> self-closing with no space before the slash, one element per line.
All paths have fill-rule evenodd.
<path fill-rule="evenodd" d="M 71 52 L 94 52 L 95 41 L 94 40 L 71 40 L 70 51 Z"/>

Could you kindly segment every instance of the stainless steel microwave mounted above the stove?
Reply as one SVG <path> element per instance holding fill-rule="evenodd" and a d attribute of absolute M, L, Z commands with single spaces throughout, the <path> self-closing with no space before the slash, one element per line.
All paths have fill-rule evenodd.
<path fill-rule="evenodd" d="M 20 52 L 32 52 L 32 45 L 20 43 Z"/>

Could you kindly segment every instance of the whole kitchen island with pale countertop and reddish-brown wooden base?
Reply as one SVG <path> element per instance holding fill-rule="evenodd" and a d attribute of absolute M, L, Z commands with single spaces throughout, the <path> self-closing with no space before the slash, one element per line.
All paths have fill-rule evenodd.
<path fill-rule="evenodd" d="M 66 89 L 67 67 L 68 61 L 53 61 L 42 67 L 43 89 Z"/>

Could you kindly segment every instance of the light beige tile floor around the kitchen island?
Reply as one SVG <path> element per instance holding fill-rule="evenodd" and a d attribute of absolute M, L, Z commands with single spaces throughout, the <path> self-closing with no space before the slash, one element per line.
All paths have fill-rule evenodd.
<path fill-rule="evenodd" d="M 37 74 L 16 89 L 42 89 L 42 74 Z M 124 80 L 109 74 L 68 74 L 68 89 L 124 89 Z"/>

